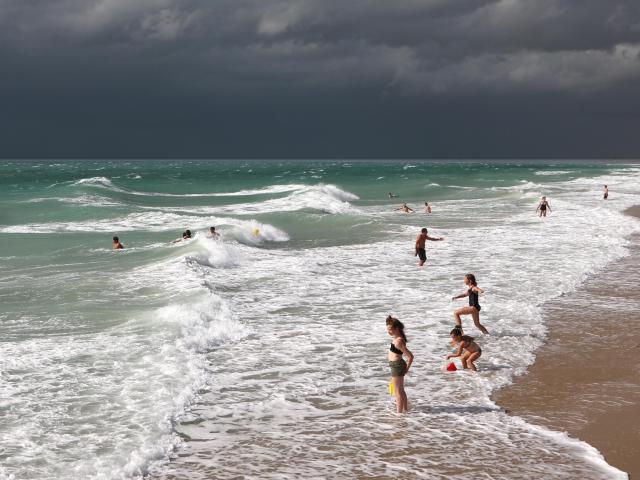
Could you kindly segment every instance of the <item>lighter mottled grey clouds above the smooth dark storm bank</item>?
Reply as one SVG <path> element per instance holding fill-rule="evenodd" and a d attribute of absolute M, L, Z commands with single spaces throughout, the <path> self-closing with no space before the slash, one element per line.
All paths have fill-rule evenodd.
<path fill-rule="evenodd" d="M 0 8 L 5 48 L 70 49 L 61 56 L 124 69 L 165 65 L 171 81 L 188 84 L 171 75 L 186 68 L 193 83 L 214 77 L 212 86 L 232 90 L 252 79 L 303 89 L 368 79 L 402 93 L 591 89 L 636 78 L 629 54 L 640 45 L 634 2 L 5 0 Z"/>

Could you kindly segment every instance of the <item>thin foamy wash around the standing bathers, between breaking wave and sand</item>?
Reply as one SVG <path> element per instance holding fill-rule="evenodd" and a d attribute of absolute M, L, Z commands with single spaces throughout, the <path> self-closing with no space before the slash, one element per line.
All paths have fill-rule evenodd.
<path fill-rule="evenodd" d="M 243 356 L 245 374 L 217 377 L 220 390 L 201 401 L 198 415 L 204 421 L 180 428 L 194 439 L 190 452 L 197 458 L 227 449 L 236 454 L 224 464 L 201 463 L 197 471 L 178 461 L 169 473 L 186 471 L 197 479 L 213 472 L 272 478 L 398 477 L 410 471 L 467 478 L 466 470 L 446 473 L 460 468 L 450 452 L 465 444 L 475 452 L 474 468 L 481 464 L 497 477 L 535 471 L 553 479 L 625 478 L 589 445 L 509 417 L 489 400 L 496 387 L 533 361 L 546 330 L 541 305 L 624 255 L 625 236 L 638 230 L 633 219 L 595 204 L 585 218 L 582 196 L 576 189 L 558 193 L 557 208 L 540 220 L 523 195 L 515 205 L 503 204 L 500 224 L 482 225 L 467 223 L 474 207 L 462 202 L 464 208 L 447 210 L 455 228 L 438 229 L 447 241 L 429 245 L 423 271 L 416 270 L 411 253 L 416 227 L 407 226 L 380 243 L 296 255 L 265 251 L 246 267 L 216 272 L 219 284 L 252 286 L 234 291 L 234 310 L 264 334 L 225 352 L 234 362 Z M 514 262 L 514 252 L 535 261 Z M 462 276 L 471 269 L 486 288 L 482 316 L 493 335 L 478 339 L 485 352 L 479 375 L 444 374 L 451 312 L 463 304 L 452 304 L 450 297 L 464 289 Z M 526 288 L 521 279 L 530 279 Z M 382 348 L 389 312 L 407 324 L 417 359 L 407 379 L 413 413 L 402 428 L 383 413 L 389 405 Z M 464 322 L 475 335 L 470 321 Z M 223 355 L 211 360 L 221 372 L 228 370 Z M 250 401 L 246 392 L 261 400 Z M 335 431 L 341 432 L 339 440 L 326 433 Z M 386 455 L 395 448 L 389 432 L 396 432 L 398 448 L 421 445 L 424 455 Z M 296 449 L 300 443 L 306 448 Z M 292 449 L 295 458 L 286 453 Z M 505 462 L 505 454 L 511 455 L 505 452 L 517 452 L 517 466 Z"/>

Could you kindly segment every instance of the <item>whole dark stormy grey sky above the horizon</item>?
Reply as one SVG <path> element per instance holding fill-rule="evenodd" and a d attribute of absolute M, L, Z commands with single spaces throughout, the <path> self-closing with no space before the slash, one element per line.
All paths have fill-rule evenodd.
<path fill-rule="evenodd" d="M 4 158 L 637 158 L 640 2 L 0 0 Z"/>

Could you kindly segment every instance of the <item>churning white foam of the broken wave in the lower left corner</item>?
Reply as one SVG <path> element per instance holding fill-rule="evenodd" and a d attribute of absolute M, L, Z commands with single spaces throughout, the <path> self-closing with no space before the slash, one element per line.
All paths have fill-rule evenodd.
<path fill-rule="evenodd" d="M 129 292 L 151 287 L 168 303 L 150 314 L 101 333 L 3 347 L 0 405 L 13 413 L 2 432 L 16 478 L 142 478 L 180 444 L 173 424 L 211 381 L 206 353 L 250 330 L 204 288 L 187 256 L 121 275 L 110 293 L 133 299 Z"/>

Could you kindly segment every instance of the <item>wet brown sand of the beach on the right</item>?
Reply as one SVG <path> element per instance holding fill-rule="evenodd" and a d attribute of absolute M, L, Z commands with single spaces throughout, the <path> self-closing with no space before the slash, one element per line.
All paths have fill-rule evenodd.
<path fill-rule="evenodd" d="M 640 218 L 640 206 L 626 212 Z M 545 306 L 548 340 L 528 373 L 493 399 L 586 441 L 640 479 L 640 235 L 631 254 Z M 550 286 L 552 288 L 552 286 Z"/>

